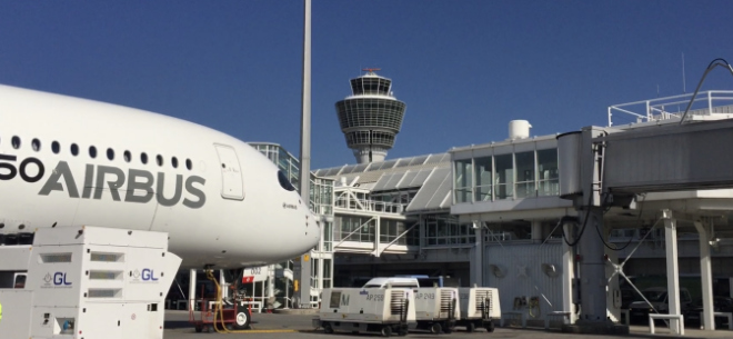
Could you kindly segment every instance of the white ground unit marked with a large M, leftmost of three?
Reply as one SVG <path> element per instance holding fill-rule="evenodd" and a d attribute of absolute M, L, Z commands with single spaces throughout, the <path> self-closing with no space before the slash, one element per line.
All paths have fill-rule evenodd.
<path fill-rule="evenodd" d="M 405 336 L 415 323 L 415 299 L 404 288 L 327 288 L 323 289 L 315 328 L 333 331 L 378 332 Z"/>

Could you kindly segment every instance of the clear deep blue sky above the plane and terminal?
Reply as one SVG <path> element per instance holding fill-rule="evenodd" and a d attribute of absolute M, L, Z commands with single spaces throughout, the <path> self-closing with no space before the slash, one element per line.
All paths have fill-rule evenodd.
<path fill-rule="evenodd" d="M 353 163 L 334 103 L 381 68 L 408 104 L 388 158 L 606 123 L 733 62 L 733 1 L 312 3 L 312 168 Z M 0 0 L 0 83 L 145 109 L 300 149 L 303 3 Z M 716 69 L 703 89 L 733 89 Z M 4 112 L 0 112 L 4 113 Z"/>

